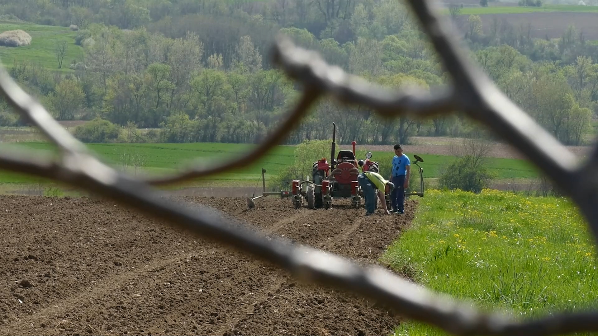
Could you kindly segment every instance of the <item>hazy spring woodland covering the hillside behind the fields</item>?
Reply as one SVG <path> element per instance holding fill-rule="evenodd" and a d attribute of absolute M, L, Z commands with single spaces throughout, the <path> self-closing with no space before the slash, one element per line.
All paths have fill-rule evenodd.
<path fill-rule="evenodd" d="M 78 25 L 74 43 L 83 47 L 84 57 L 65 60 L 72 72 L 59 75 L 17 62 L 11 75 L 57 119 L 101 118 L 139 135 L 128 137 L 131 141 L 259 142 L 282 120 L 300 90 L 270 65 L 269 48 L 278 32 L 319 51 L 329 63 L 379 84 L 414 83 L 429 90 L 447 84 L 446 71 L 426 36 L 398 1 L 307 4 L 0 0 L 0 13 Z M 573 26 L 561 38 L 533 39 L 529 26 L 516 28 L 496 20 L 484 33 L 480 17 L 458 14 L 451 10 L 449 16 L 472 59 L 509 98 L 562 142 L 584 143 L 598 100 L 596 45 Z M 54 21 L 44 22 L 49 18 Z M 340 143 L 408 143 L 414 135 L 480 132 L 477 124 L 459 114 L 389 121 L 363 106 L 324 99 L 286 141 L 328 139 L 332 121 L 339 126 Z M 1 125 L 20 123 L 7 109 L 0 112 Z M 78 131 L 83 138 L 86 129 Z M 103 139 L 87 138 L 118 138 L 114 132 L 102 134 Z"/>

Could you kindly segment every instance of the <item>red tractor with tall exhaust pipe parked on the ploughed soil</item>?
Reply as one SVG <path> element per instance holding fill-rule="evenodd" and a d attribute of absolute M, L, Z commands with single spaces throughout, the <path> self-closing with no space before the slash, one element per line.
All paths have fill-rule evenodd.
<path fill-rule="evenodd" d="M 332 123 L 334 129 L 332 130 L 332 148 L 330 156 L 334 157 L 335 138 L 336 138 L 336 124 Z M 359 207 L 361 205 L 361 188 L 357 182 L 357 175 L 359 175 L 359 164 L 355 158 L 355 141 L 352 151 L 341 150 L 331 163 L 328 163 L 326 158 L 322 158 L 313 163 L 312 181 L 292 181 L 292 194 L 294 205 L 298 209 L 301 207 L 302 193 L 301 184 L 308 183 L 307 191 L 304 194 L 307 200 L 307 207 L 315 209 L 324 207 L 329 209 L 332 207 L 332 199 L 334 198 L 351 198 L 352 206 Z M 369 160 L 369 158 L 368 158 Z M 368 161 L 368 168 L 374 168 L 377 172 L 378 163 L 375 161 Z"/>

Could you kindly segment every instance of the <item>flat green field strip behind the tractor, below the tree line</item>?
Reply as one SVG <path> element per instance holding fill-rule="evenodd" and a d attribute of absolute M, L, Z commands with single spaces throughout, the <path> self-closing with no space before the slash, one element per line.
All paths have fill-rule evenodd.
<path fill-rule="evenodd" d="M 29 149 L 45 152 L 50 152 L 53 148 L 46 142 L 11 143 L 9 146 L 26 146 Z M 139 169 L 153 175 L 172 173 L 176 167 L 195 159 L 199 159 L 202 164 L 206 164 L 210 160 L 234 158 L 251 150 L 254 145 L 236 143 L 91 143 L 89 148 L 106 163 L 117 168 L 123 167 L 122 157 L 124 153 L 140 157 L 143 164 Z M 251 166 L 210 177 L 209 180 L 199 179 L 197 181 L 221 181 L 253 185 L 261 176 L 261 167 L 267 170 L 266 180 L 268 181 L 273 176 L 278 175 L 283 167 L 293 163 L 294 150 L 294 146 L 277 146 L 265 158 Z M 441 167 L 452 159 L 448 156 L 422 153 L 410 153 L 409 155 L 412 154 L 419 154 L 425 160 L 425 163 L 422 164 L 425 178 L 438 177 Z M 374 160 L 389 166 L 393 154 L 373 152 L 373 155 Z M 413 157 L 411 159 L 413 160 Z M 536 176 L 535 168 L 527 161 L 501 158 L 489 158 L 488 160 L 490 171 L 495 174 L 496 178 L 533 178 Z M 414 167 L 413 172 L 415 172 L 417 167 L 412 166 Z M 129 169 L 132 169 L 132 165 L 129 165 Z M 0 183 L 25 184 L 32 181 L 37 180 L 17 173 L 0 172 Z"/>

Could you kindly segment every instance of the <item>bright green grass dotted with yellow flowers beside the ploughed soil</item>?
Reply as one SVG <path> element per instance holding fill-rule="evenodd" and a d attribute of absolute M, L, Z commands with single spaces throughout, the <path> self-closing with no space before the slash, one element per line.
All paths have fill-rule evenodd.
<path fill-rule="evenodd" d="M 428 191 L 382 261 L 437 292 L 532 318 L 596 304 L 596 254 L 568 198 Z M 402 323 L 396 335 L 448 335 Z"/>

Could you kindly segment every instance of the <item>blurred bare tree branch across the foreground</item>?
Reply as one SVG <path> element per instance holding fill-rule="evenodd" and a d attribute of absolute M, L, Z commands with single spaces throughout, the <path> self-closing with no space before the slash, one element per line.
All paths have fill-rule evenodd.
<path fill-rule="evenodd" d="M 588 177 L 595 173 L 591 175 L 589 169 L 584 170 L 586 173 L 583 175 L 575 172 L 575 156 L 508 100 L 484 74 L 466 63 L 465 56 L 457 51 L 456 44 L 445 33 L 449 30 L 441 23 L 440 16 L 432 13 L 428 1 L 409 2 L 453 76 L 453 90 L 440 96 L 432 97 L 420 90 L 397 93 L 368 84 L 327 65 L 316 54 L 281 40 L 274 48 L 274 60 L 290 77 L 303 83 L 305 91 L 300 103 L 279 129 L 254 152 L 238 160 L 213 167 L 193 167 L 166 178 L 138 180 L 118 173 L 91 156 L 83 143 L 63 129 L 43 106 L 25 93 L 2 69 L 2 93 L 22 115 L 40 127 L 62 149 L 62 157 L 53 163 L 22 150 L 2 151 L 0 168 L 54 179 L 112 198 L 145 215 L 160 218 L 175 227 L 190 230 L 278 265 L 306 282 L 350 290 L 385 304 L 404 317 L 430 323 L 456 335 L 557 335 L 598 331 L 598 313 L 595 312 L 559 314 L 523 322 L 509 319 L 503 314 L 483 314 L 470 304 L 435 294 L 383 268 L 359 267 L 355 262 L 337 255 L 294 245 L 283 239 L 267 239 L 263 234 L 247 226 L 233 224 L 209 210 L 189 209 L 167 200 L 151 187 L 151 184 L 171 184 L 222 173 L 254 162 L 288 135 L 320 96 L 329 93 L 341 102 L 366 105 L 386 117 L 429 117 L 443 111 L 465 111 L 508 140 L 563 190 L 568 191 L 593 225 L 596 236 L 598 182 Z M 595 156 L 598 157 L 598 154 Z M 597 160 L 593 158 L 590 162 Z"/>

